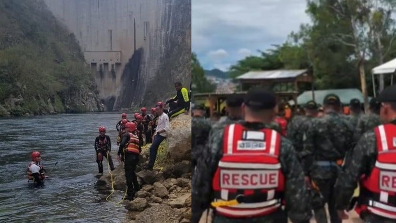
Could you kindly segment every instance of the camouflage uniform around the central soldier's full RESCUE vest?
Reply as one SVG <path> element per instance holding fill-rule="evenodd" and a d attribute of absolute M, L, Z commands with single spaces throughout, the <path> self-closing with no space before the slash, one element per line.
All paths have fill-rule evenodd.
<path fill-rule="evenodd" d="M 258 130 L 264 128 L 263 123 L 241 123 L 249 129 Z M 217 130 L 209 137 L 207 146 L 198 159 L 196 177 L 192 186 L 192 218 L 193 223 L 198 222 L 202 212 L 210 206 L 212 201 L 212 178 L 217 168 L 218 162 L 223 153 L 223 129 Z M 297 160 L 296 152 L 292 143 L 285 137 L 281 138 L 279 160 L 282 172 L 285 174 L 286 187 L 286 209 L 289 218 L 294 223 L 308 223 L 311 217 L 308 204 L 308 194 L 304 186 L 304 178 L 301 165 Z M 268 216 L 254 219 L 229 219 L 222 216 L 214 216 L 215 223 L 286 223 L 284 211 L 278 211 Z"/>

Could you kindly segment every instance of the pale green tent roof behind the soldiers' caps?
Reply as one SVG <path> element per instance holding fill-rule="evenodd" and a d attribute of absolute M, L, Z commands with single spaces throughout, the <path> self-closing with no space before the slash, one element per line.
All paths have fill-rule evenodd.
<path fill-rule="evenodd" d="M 314 91 L 314 94 L 315 102 L 318 104 L 323 104 L 323 99 L 328 94 L 336 94 L 340 97 L 341 103 L 344 105 L 349 105 L 349 101 L 354 98 L 357 98 L 361 103 L 364 103 L 363 94 L 356 88 L 317 90 Z M 297 97 L 298 105 L 304 105 L 310 100 L 312 100 L 312 91 L 304 91 Z"/>

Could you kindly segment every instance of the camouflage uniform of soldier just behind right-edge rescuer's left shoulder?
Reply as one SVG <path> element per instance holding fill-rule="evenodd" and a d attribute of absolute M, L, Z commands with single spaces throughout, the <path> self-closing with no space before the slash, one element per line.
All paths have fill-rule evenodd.
<path fill-rule="evenodd" d="M 370 114 L 361 114 L 356 120 L 356 127 L 353 133 L 353 142 L 357 143 L 363 133 L 368 130 L 373 129 L 374 127 L 380 125 L 381 119 L 378 114 L 370 113 Z"/>

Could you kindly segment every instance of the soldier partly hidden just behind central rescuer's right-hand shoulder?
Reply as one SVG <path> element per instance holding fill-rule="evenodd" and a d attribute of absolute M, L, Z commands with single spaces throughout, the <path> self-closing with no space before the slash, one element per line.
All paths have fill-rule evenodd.
<path fill-rule="evenodd" d="M 315 101 L 308 101 L 304 106 L 305 115 L 296 115 L 288 125 L 287 138 L 292 141 L 299 154 L 302 151 L 302 136 L 306 131 L 308 122 L 318 114 L 318 105 Z"/>

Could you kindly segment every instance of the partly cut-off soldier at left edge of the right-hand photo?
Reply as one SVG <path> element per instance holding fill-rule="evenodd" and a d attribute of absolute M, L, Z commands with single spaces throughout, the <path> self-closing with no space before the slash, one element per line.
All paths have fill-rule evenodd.
<path fill-rule="evenodd" d="M 194 177 L 194 168 L 197 165 L 197 159 L 201 156 L 203 147 L 206 145 L 209 132 L 212 128 L 210 122 L 205 119 L 205 107 L 195 106 L 192 110 L 191 119 L 191 148 L 192 148 L 192 176 Z"/>

